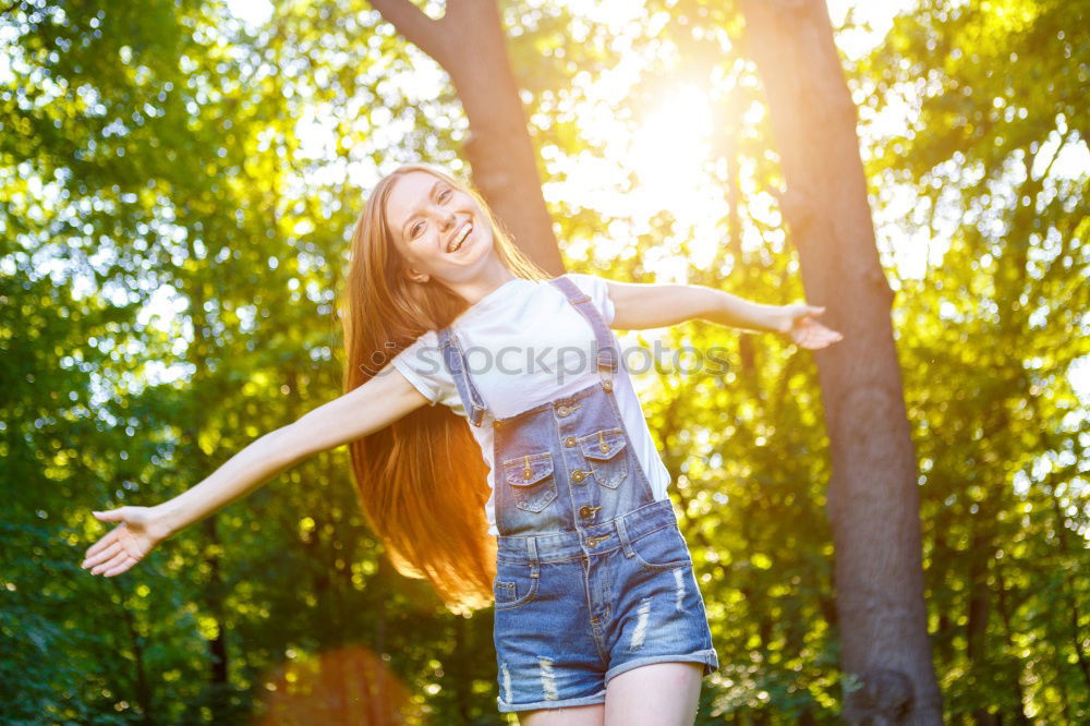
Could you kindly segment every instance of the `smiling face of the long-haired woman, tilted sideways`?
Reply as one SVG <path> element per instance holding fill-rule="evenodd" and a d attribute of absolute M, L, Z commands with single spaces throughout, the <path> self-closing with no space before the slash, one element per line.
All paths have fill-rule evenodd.
<path fill-rule="evenodd" d="M 470 279 L 493 254 L 492 226 L 473 197 L 425 171 L 393 182 L 386 221 L 410 277 L 424 282 Z"/>

